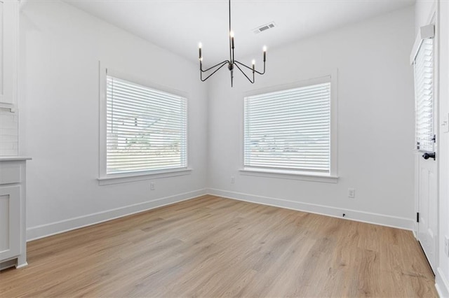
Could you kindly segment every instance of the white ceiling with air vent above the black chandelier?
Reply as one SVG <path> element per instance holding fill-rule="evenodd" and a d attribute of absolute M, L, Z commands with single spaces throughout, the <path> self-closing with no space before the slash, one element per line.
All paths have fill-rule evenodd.
<path fill-rule="evenodd" d="M 64 0 L 147 41 L 205 66 L 229 59 L 227 0 Z M 232 0 L 235 57 L 269 50 L 335 27 L 413 5 L 414 0 Z M 255 34 L 253 29 L 276 27 Z M 250 63 L 249 61 L 242 61 Z"/>

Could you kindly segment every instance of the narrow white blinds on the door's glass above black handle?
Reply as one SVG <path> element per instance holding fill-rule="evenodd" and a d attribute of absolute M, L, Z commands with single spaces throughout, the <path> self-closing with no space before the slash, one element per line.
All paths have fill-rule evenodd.
<path fill-rule="evenodd" d="M 434 40 L 426 38 L 415 57 L 415 134 L 418 150 L 434 151 Z"/>

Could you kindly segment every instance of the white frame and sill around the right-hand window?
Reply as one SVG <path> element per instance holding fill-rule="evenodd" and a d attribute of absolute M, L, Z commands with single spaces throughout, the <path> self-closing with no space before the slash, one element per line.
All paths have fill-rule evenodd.
<path fill-rule="evenodd" d="M 283 90 L 295 89 L 299 87 L 306 87 L 308 85 L 317 85 L 320 83 L 330 83 L 330 171 L 329 173 L 318 173 L 312 171 L 300 171 L 300 170 L 283 170 L 283 169 L 266 169 L 257 168 L 251 166 L 245 166 L 245 102 L 241 103 L 241 150 L 240 150 L 240 164 L 241 169 L 239 170 L 242 175 L 246 176 L 262 176 L 269 178 L 283 178 L 283 179 L 294 179 L 294 180 L 307 180 L 325 183 L 337 183 L 338 171 L 337 171 L 337 94 L 338 94 L 338 70 L 326 71 L 317 73 L 315 76 L 309 76 L 302 80 L 298 80 L 294 83 L 289 83 L 285 85 L 276 85 L 260 90 L 253 90 L 243 94 L 243 98 L 251 97 L 255 95 L 279 92 Z"/>

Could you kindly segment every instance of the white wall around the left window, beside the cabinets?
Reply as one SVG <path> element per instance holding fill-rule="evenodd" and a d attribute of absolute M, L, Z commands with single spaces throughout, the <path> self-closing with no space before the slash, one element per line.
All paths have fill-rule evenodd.
<path fill-rule="evenodd" d="M 27 166 L 28 239 L 204 193 L 206 85 L 197 66 L 60 1 L 21 13 L 20 154 Z M 98 61 L 187 93 L 187 176 L 98 185 Z"/>

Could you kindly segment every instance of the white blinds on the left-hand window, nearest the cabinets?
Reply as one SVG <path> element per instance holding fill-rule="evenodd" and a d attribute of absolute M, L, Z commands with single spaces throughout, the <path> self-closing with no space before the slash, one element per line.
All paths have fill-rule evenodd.
<path fill-rule="evenodd" d="M 107 76 L 107 174 L 187 167 L 187 99 Z"/>

